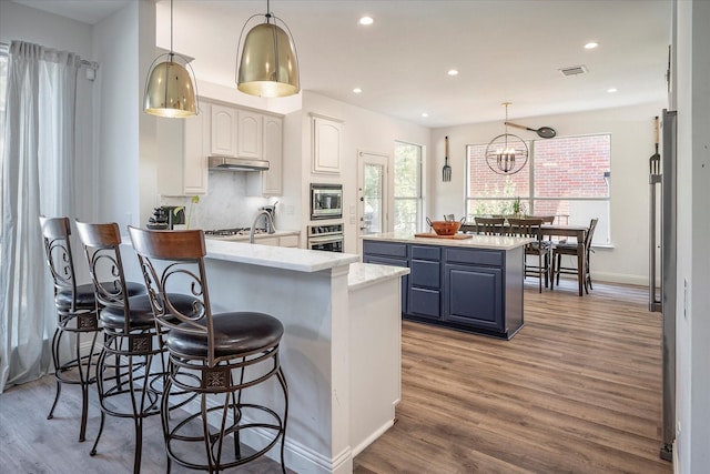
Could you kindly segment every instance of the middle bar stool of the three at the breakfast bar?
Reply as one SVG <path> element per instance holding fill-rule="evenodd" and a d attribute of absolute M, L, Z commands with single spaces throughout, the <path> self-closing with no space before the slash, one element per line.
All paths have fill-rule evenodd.
<path fill-rule="evenodd" d="M 133 472 L 141 471 L 143 420 L 160 413 L 160 395 L 168 374 L 164 352 L 156 340 L 155 319 L 145 292 L 130 296 L 121 260 L 121 233 L 116 223 L 77 222 L 89 273 L 101 310 L 103 347 L 97 362 L 97 386 L 101 404 L 101 425 L 91 450 L 103 433 L 105 415 L 129 417 L 135 430 Z M 190 311 L 193 299 L 172 295 L 175 304 Z M 158 356 L 153 363 L 153 356 Z"/>

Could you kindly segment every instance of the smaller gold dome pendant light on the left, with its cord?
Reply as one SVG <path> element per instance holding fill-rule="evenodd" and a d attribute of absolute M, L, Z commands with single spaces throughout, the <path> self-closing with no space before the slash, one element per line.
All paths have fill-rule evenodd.
<path fill-rule="evenodd" d="M 163 58 L 165 60 L 156 64 Z M 184 65 L 175 59 L 182 60 Z M 197 91 L 194 75 L 189 61 L 173 52 L 173 0 L 170 0 L 170 52 L 160 54 L 151 64 L 145 81 L 143 110 L 151 115 L 168 118 L 196 115 Z"/>

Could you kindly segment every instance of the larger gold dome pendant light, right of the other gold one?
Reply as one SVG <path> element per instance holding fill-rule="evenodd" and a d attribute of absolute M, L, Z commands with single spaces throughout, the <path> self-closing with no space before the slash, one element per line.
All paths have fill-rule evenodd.
<path fill-rule="evenodd" d="M 244 39 L 242 37 L 246 26 L 256 17 L 264 17 L 266 22 L 252 28 Z M 272 22 L 273 20 L 273 22 Z M 280 21 L 286 31 L 278 27 Z M 293 34 L 286 23 L 276 18 L 268 8 L 266 13 L 257 13 L 250 17 L 242 28 L 237 44 L 236 58 L 236 88 L 250 95 L 258 97 L 287 97 L 301 91 L 298 79 L 298 58 Z"/>

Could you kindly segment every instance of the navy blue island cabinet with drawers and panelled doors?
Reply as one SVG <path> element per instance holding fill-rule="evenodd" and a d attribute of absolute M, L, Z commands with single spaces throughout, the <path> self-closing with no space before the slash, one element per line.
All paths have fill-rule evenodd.
<path fill-rule="evenodd" d="M 513 337 L 523 327 L 523 246 L 500 249 L 363 241 L 363 262 L 408 266 L 402 316 L 460 331 Z"/>

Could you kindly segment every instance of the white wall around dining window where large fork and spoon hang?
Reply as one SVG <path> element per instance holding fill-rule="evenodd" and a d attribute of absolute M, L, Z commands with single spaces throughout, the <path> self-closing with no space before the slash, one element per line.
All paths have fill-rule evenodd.
<path fill-rule="evenodd" d="M 666 103 L 596 110 L 582 113 L 526 118 L 523 123 L 551 127 L 558 137 L 611 134 L 611 248 L 595 250 L 592 279 L 632 284 L 648 283 L 648 159 L 655 152 L 653 117 Z M 503 113 L 503 108 L 501 108 Z M 511 120 L 513 121 L 513 120 Z M 464 215 L 466 195 L 466 145 L 487 143 L 503 133 L 504 120 L 432 132 L 435 159 L 429 161 L 429 215 Z M 518 133 L 517 131 L 515 133 Z M 521 131 L 521 138 L 537 139 Z M 444 137 L 449 138 L 450 182 L 442 182 Z"/>

